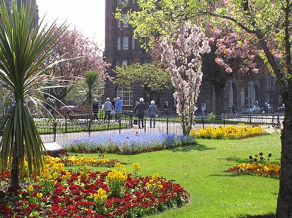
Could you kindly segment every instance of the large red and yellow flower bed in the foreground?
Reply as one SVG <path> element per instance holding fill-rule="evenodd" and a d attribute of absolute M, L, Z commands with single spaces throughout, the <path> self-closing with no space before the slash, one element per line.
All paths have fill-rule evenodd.
<path fill-rule="evenodd" d="M 138 164 L 133 174 L 125 173 L 123 164 L 116 166 L 104 173 L 86 165 L 65 172 L 62 164 L 47 164 L 17 195 L 0 191 L 0 217 L 142 217 L 188 202 L 188 193 L 174 180 L 156 173 L 142 178 Z"/>

